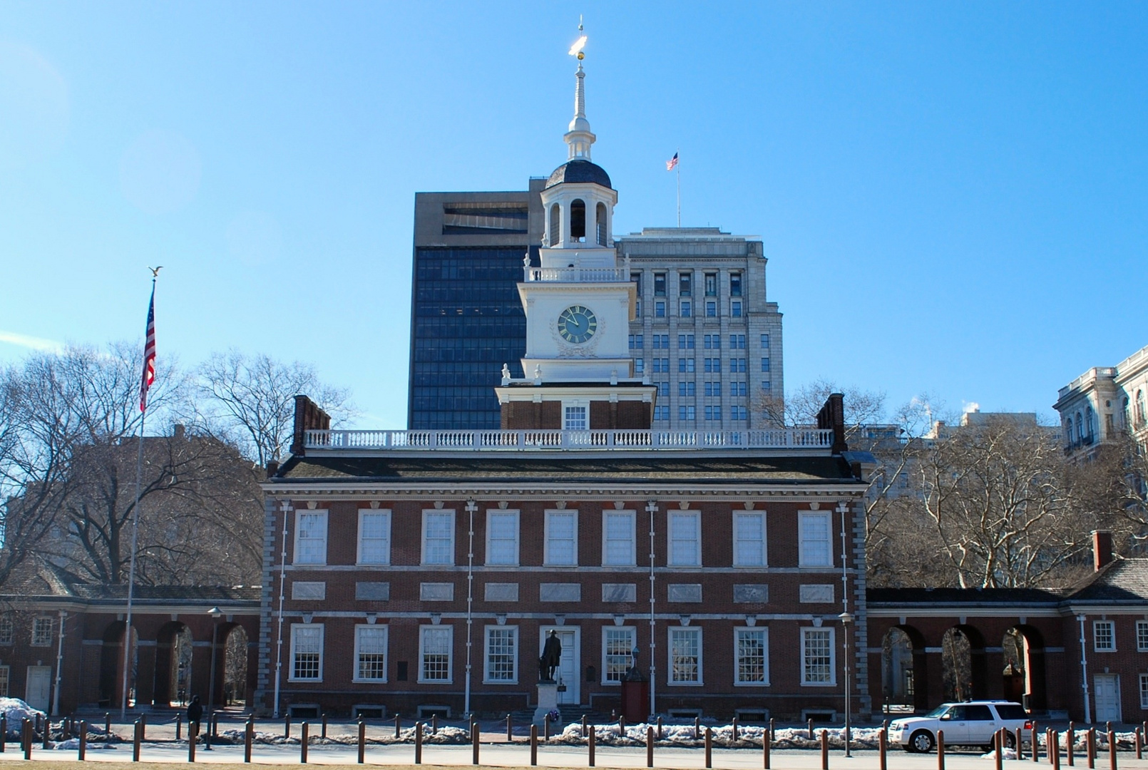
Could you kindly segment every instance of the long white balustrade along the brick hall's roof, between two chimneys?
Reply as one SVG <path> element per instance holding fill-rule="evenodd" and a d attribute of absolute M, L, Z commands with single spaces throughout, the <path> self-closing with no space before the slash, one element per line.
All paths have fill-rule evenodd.
<path fill-rule="evenodd" d="M 833 431 L 761 430 L 308 430 L 308 450 L 829 449 Z"/>

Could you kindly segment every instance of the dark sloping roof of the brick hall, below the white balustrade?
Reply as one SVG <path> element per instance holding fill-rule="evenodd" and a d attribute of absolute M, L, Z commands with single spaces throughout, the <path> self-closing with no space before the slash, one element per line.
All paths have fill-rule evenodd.
<path fill-rule="evenodd" d="M 395 454 L 293 456 L 271 482 L 365 481 L 419 482 L 428 487 L 458 483 L 856 483 L 839 457 L 716 456 L 647 452 L 626 457 L 549 457 L 475 454 L 404 457 Z"/>

